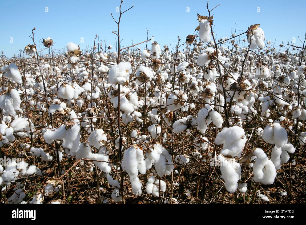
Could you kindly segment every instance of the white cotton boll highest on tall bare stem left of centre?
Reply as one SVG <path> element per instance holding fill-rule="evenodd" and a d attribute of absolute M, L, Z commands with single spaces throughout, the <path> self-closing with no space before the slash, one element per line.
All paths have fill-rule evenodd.
<path fill-rule="evenodd" d="M 110 68 L 108 73 L 108 79 L 110 84 L 123 85 L 126 81 L 129 81 L 129 70 L 131 69 L 130 62 L 120 62 Z"/>

